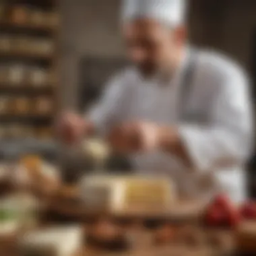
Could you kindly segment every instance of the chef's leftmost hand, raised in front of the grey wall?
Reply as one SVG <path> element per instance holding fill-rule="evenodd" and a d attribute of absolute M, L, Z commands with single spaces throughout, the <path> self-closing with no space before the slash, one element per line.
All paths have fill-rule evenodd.
<path fill-rule="evenodd" d="M 69 145 L 79 143 L 84 136 L 93 131 L 92 123 L 85 121 L 83 117 L 71 112 L 63 113 L 57 120 L 57 136 Z"/>

